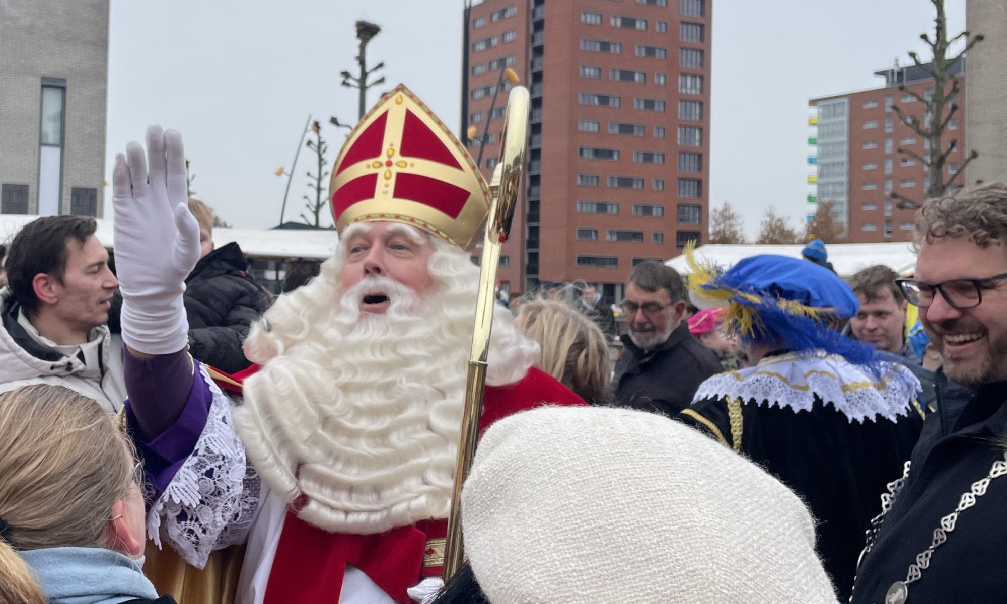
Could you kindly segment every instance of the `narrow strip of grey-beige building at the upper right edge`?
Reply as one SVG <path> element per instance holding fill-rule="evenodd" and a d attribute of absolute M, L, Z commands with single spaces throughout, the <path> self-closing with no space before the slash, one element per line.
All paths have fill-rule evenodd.
<path fill-rule="evenodd" d="M 969 0 L 965 10 L 967 29 L 986 36 L 969 51 L 965 146 L 979 157 L 965 183 L 1007 182 L 1007 0 Z"/>

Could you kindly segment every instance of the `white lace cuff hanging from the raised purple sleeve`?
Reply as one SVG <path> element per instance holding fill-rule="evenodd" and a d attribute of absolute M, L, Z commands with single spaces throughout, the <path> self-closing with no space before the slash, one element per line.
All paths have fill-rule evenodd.
<path fill-rule="evenodd" d="M 213 400 L 195 449 L 147 515 L 147 535 L 163 538 L 203 568 L 213 550 L 245 541 L 259 507 L 260 481 L 231 421 L 231 405 L 200 363 Z"/>

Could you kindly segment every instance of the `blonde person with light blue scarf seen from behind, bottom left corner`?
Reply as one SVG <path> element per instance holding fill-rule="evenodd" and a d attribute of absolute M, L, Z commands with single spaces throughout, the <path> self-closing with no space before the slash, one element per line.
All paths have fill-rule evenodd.
<path fill-rule="evenodd" d="M 115 416 L 70 390 L 0 395 L 0 604 L 174 602 L 141 571 L 131 451 Z"/>

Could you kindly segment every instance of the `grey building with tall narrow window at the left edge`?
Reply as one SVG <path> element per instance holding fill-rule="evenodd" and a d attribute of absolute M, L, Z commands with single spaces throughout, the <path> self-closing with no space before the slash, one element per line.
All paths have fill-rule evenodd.
<path fill-rule="evenodd" d="M 104 215 L 109 0 L 0 2 L 0 212 Z"/>

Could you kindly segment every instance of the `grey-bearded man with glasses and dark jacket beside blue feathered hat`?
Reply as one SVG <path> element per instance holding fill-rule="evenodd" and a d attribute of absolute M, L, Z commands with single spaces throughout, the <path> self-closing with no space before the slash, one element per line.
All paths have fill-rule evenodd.
<path fill-rule="evenodd" d="M 717 356 L 682 320 L 685 287 L 674 269 L 643 262 L 626 281 L 622 311 L 629 321 L 615 364 L 615 405 L 674 417 L 707 378 L 723 370 Z"/>

